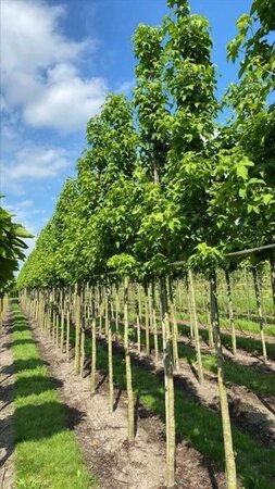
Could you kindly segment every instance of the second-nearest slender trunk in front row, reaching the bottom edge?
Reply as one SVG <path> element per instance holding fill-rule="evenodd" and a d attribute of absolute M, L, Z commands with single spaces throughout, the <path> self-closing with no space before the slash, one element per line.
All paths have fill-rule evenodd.
<path fill-rule="evenodd" d="M 165 279 L 161 278 L 161 305 L 164 331 L 163 362 L 164 362 L 164 386 L 165 386 L 165 418 L 166 418 L 166 486 L 174 487 L 175 484 L 175 413 L 174 413 L 174 377 L 173 377 L 173 353 L 172 335 L 170 329 L 167 290 Z"/>

